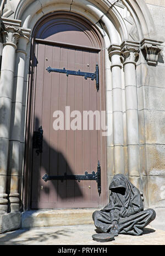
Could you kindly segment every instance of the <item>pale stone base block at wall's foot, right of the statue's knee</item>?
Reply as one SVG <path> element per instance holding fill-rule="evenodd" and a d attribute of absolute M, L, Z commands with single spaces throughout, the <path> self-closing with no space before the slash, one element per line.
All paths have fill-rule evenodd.
<path fill-rule="evenodd" d="M 151 221 L 150 226 L 156 228 L 157 230 L 165 230 L 165 207 L 158 207 L 152 209 L 156 211 L 156 218 L 155 220 Z"/>

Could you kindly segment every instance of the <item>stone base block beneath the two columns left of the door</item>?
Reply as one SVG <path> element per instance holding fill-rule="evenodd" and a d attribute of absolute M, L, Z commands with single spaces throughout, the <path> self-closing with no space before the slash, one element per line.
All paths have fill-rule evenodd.
<path fill-rule="evenodd" d="M 19 211 L 0 215 L 0 233 L 17 230 L 21 226 L 21 213 Z"/>

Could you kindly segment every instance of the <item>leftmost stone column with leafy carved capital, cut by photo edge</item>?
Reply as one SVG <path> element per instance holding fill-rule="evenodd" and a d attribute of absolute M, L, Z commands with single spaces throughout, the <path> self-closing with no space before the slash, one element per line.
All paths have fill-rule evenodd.
<path fill-rule="evenodd" d="M 12 109 L 15 50 L 20 32 L 20 21 L 3 22 L 3 52 L 0 80 L 0 214 L 7 213 L 7 161 Z"/>

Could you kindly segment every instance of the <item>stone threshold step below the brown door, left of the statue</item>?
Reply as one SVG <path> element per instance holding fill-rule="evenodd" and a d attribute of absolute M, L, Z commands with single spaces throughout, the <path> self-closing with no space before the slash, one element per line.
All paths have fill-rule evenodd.
<path fill-rule="evenodd" d="M 21 217 L 21 228 L 94 224 L 92 213 L 96 210 L 101 209 L 42 209 L 24 211 Z"/>

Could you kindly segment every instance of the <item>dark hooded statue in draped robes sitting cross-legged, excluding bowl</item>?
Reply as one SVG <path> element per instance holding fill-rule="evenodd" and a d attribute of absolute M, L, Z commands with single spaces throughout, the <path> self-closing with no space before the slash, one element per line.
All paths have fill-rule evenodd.
<path fill-rule="evenodd" d="M 119 189 L 124 188 L 124 194 Z M 109 203 L 92 215 L 97 230 L 111 232 L 113 221 L 118 223 L 118 233 L 139 236 L 145 226 L 155 219 L 153 209 L 144 210 L 141 195 L 124 175 L 115 175 L 109 186 L 111 195 Z"/>

